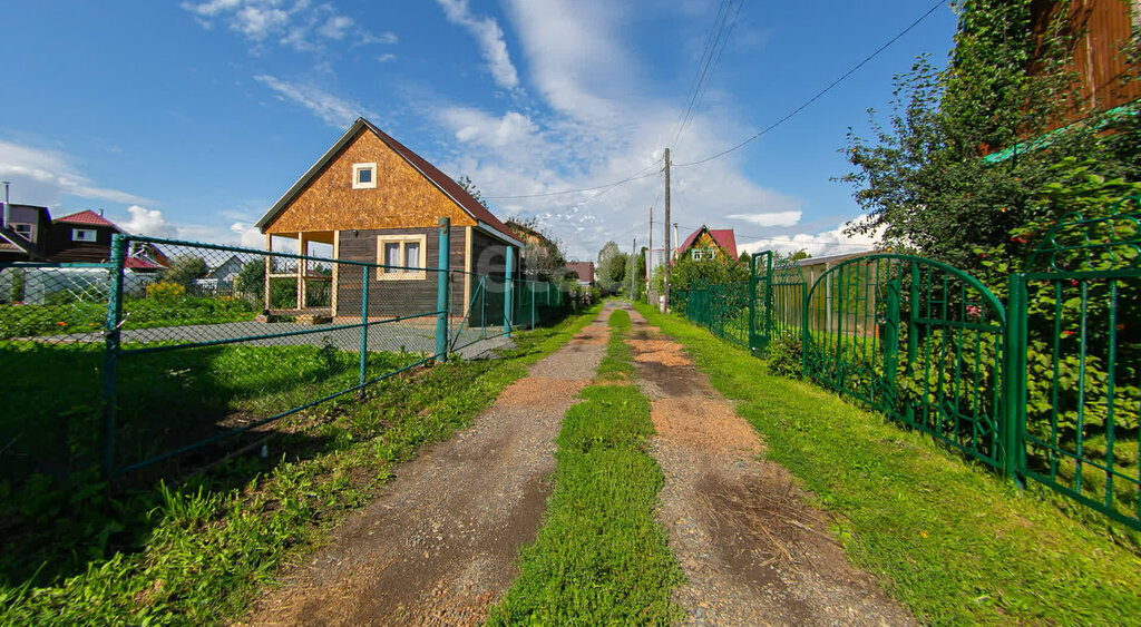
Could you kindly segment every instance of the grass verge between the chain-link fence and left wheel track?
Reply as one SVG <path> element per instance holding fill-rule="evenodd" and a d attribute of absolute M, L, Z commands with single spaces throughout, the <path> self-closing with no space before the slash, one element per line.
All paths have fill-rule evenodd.
<path fill-rule="evenodd" d="M 235 458 L 178 489 L 160 484 L 98 502 L 95 487 L 78 498 L 95 500 L 89 506 L 104 515 L 119 512 L 112 523 L 141 511 L 133 522 L 145 530 L 107 557 L 100 547 L 76 546 L 92 552 L 76 575 L 0 585 L 0 624 L 203 624 L 240 614 L 283 562 L 302 559 L 364 505 L 395 464 L 467 425 L 592 317 L 519 334 L 519 348 L 502 359 L 394 377 L 370 389 L 365 402 L 332 401 L 327 421 L 283 435 L 268 458 Z"/>

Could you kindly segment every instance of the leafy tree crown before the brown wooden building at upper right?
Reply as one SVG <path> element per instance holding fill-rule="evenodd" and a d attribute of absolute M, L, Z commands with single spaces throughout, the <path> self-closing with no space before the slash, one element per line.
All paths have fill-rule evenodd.
<path fill-rule="evenodd" d="M 843 180 L 867 219 L 850 231 L 884 229 L 885 244 L 909 249 L 968 271 L 974 252 L 1010 238 L 1031 218 L 1039 189 L 1067 158 L 1106 179 L 1141 174 L 1138 116 L 1102 132 L 1099 115 L 1050 136 L 1038 149 L 988 163 L 984 154 L 1039 137 L 1075 106 L 1066 70 L 1078 35 L 1066 2 L 1049 24 L 1031 24 L 1030 0 L 973 0 L 960 5 L 960 30 L 946 70 L 926 57 L 897 76 L 887 125 L 872 114 L 873 140 L 849 133 L 856 169 Z M 1057 124 L 1057 122 L 1054 122 Z"/>

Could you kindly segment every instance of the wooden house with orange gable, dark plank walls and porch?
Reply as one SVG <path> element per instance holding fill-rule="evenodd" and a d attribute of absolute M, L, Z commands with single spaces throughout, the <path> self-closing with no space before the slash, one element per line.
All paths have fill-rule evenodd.
<path fill-rule="evenodd" d="M 436 309 L 439 220 L 451 219 L 451 310 L 462 317 L 480 292 L 496 292 L 508 259 L 518 276 L 521 243 L 448 176 L 399 141 L 358 119 L 257 222 L 266 236 L 294 239 L 301 254 L 313 243 L 332 246 L 338 260 L 391 268 L 334 264 L 332 275 L 306 263 L 278 267 L 267 259 L 267 300 L 273 280 L 296 280 L 296 307 L 282 314 L 361 317 L 362 285 L 369 316 L 405 316 Z M 478 275 L 488 275 L 492 280 Z M 332 282 L 327 306 L 309 307 L 308 284 Z M 502 308 L 502 304 L 500 304 Z M 500 311 L 502 314 L 502 311 Z"/>

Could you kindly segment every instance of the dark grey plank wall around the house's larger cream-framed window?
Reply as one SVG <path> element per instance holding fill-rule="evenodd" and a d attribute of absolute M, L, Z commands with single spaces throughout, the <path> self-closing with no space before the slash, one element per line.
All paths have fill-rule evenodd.
<path fill-rule="evenodd" d="M 463 252 L 464 227 L 452 227 L 450 267 L 462 270 L 464 267 Z M 353 231 L 340 231 L 337 236 L 338 259 L 348 261 L 377 262 L 377 238 L 379 236 L 394 235 L 423 235 L 424 236 L 424 267 L 439 267 L 439 227 L 436 228 L 405 228 L 405 229 L 369 229 Z M 361 317 L 361 280 L 362 268 L 356 266 L 343 266 L 338 268 L 335 274 L 337 310 L 334 316 Z M 393 317 L 408 316 L 424 311 L 436 310 L 436 299 L 438 290 L 439 272 L 427 271 L 423 279 L 412 280 L 385 280 L 377 278 L 377 269 L 369 268 L 369 317 Z M 453 275 L 453 278 L 460 275 Z M 452 290 L 452 312 L 454 316 L 462 316 L 467 303 L 463 298 L 463 284 L 459 283 Z"/>

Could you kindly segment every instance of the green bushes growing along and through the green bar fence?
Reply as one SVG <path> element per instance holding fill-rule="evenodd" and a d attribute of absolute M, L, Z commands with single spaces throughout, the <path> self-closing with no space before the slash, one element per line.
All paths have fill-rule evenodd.
<path fill-rule="evenodd" d="M 772 252 L 675 311 L 1019 481 L 1141 530 L 1141 214 L 1070 214 L 993 291 L 877 253 L 809 284 Z M 996 293 L 996 291 L 998 293 Z M 1000 293 L 1005 291 L 1005 298 Z"/>

